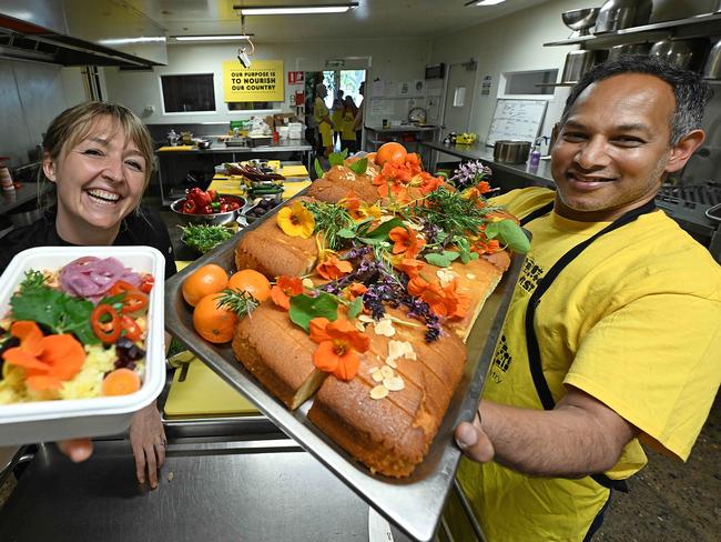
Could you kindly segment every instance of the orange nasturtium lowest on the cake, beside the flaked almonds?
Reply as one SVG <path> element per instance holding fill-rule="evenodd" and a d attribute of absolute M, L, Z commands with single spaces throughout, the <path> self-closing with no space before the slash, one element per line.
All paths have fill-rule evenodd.
<path fill-rule="evenodd" d="M 365 352 L 370 345 L 368 335 L 344 319 L 331 322 L 327 318 L 314 318 L 309 328 L 311 340 L 318 344 L 313 364 L 337 379 L 352 380 L 360 365 L 357 352 Z"/>

